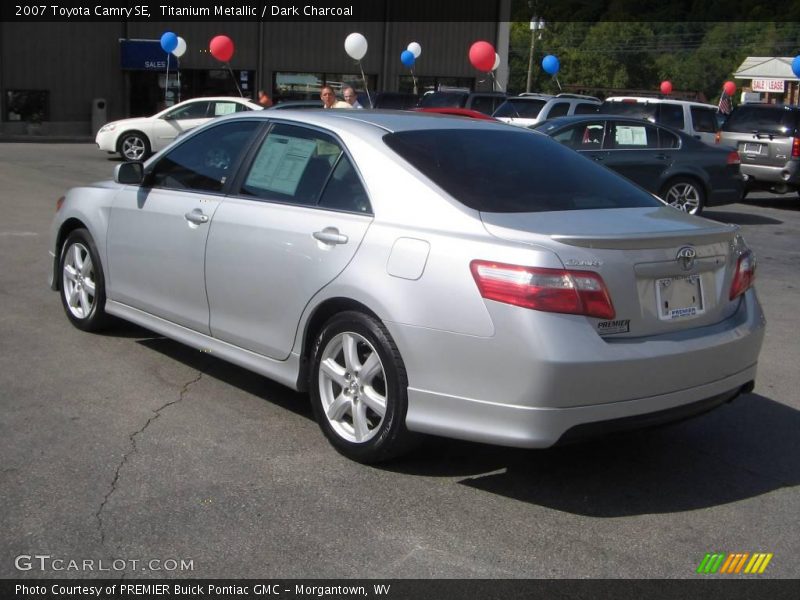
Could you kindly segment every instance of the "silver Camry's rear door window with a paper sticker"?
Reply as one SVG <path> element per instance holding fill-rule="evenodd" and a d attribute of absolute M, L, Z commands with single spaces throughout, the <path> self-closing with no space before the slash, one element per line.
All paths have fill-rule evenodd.
<path fill-rule="evenodd" d="M 319 131 L 278 124 L 264 138 L 242 185 L 242 194 L 315 206 L 342 149 Z"/>

